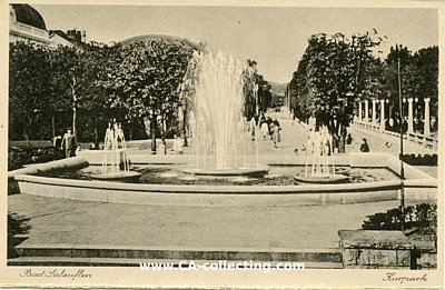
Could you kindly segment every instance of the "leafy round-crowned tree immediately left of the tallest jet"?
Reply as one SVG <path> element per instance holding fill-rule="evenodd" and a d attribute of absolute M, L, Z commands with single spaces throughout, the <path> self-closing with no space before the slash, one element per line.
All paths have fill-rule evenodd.
<path fill-rule="evenodd" d="M 165 142 L 165 124 L 176 116 L 180 83 L 192 48 L 178 41 L 149 38 L 113 49 L 116 59 L 111 60 L 106 82 L 112 104 L 125 108 L 129 119 L 150 120 L 151 151 L 156 152 L 158 121 Z"/>

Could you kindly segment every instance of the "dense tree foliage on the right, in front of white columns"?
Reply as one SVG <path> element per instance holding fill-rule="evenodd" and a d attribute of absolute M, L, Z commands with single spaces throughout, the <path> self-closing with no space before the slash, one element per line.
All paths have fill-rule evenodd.
<path fill-rule="evenodd" d="M 316 117 L 317 126 L 327 126 L 338 136 L 340 152 L 357 101 L 389 99 L 392 113 L 397 116 L 398 59 L 403 97 L 432 98 L 432 114 L 437 116 L 438 48 L 412 53 L 399 46 L 383 61 L 374 52 L 382 41 L 375 30 L 350 39 L 342 33 L 314 34 L 289 82 L 295 116 L 301 120 Z"/>

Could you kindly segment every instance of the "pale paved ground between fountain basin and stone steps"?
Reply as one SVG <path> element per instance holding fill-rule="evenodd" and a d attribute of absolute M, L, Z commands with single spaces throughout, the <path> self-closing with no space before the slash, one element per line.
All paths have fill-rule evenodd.
<path fill-rule="evenodd" d="M 9 211 L 30 218 L 31 244 L 155 246 L 159 248 L 337 248 L 340 229 L 396 201 L 310 207 L 152 207 L 9 197 Z"/>

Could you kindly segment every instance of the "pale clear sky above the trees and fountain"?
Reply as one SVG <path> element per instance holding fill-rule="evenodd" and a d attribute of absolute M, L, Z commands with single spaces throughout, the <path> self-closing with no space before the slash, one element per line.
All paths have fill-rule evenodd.
<path fill-rule="evenodd" d="M 205 42 L 240 59 L 257 61 L 267 81 L 285 83 L 314 33 L 346 36 L 376 29 L 416 51 L 438 44 L 438 12 L 419 8 L 156 7 L 32 4 L 48 30 L 77 28 L 87 39 L 109 43 L 141 34 L 169 34 Z"/>

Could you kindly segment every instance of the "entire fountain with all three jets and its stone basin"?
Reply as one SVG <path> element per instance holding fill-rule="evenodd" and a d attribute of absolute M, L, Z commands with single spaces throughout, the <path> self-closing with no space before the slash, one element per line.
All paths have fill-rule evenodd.
<path fill-rule="evenodd" d="M 139 169 L 164 166 L 176 170 L 182 167 L 187 180 L 170 180 L 148 183 L 118 183 L 110 182 L 113 176 L 128 174 L 128 160 L 125 139 L 118 139 L 119 126 L 109 126 L 103 150 L 82 150 L 75 158 L 34 164 L 8 173 L 9 188 L 17 192 L 42 196 L 47 198 L 65 198 L 75 200 L 90 200 L 113 203 L 134 203 L 150 206 L 178 207 L 277 207 L 277 206 L 313 206 L 313 204 L 344 204 L 359 202 L 377 202 L 397 200 L 403 187 L 406 200 L 437 199 L 437 179 L 429 177 L 415 167 L 404 164 L 405 180 L 398 176 L 388 178 L 400 171 L 400 161 L 387 152 L 350 152 L 346 154 L 328 156 L 332 152 L 332 137 L 320 132 L 313 132 L 307 143 L 307 154 L 295 156 L 261 156 L 258 159 L 256 141 L 249 140 L 243 124 L 243 66 L 239 61 L 221 56 L 195 53 L 190 63 L 197 69 L 190 69 L 189 79 L 196 90 L 191 90 L 192 120 L 190 120 L 192 146 L 196 153 L 177 156 L 152 156 L 138 150 L 128 151 L 134 164 Z M 196 92 L 196 93 L 195 93 Z M 315 127 L 315 126 L 314 126 Z M 121 128 L 120 128 L 121 129 Z M 116 138 L 116 139 L 115 139 Z M 122 142 L 123 140 L 123 142 Z M 325 142 L 322 142 L 325 140 Z M 328 148 L 326 149 L 326 140 Z M 322 144 L 325 147 L 322 147 Z M 309 154 L 310 152 L 310 154 Z M 316 153 L 314 153 L 316 152 Z M 106 157 L 105 157 L 106 154 Z M 305 160 L 306 159 L 306 160 Z M 334 162 L 336 167 L 334 167 Z M 259 163 L 270 167 L 263 168 Z M 120 166 L 120 168 L 119 168 Z M 306 166 L 306 167 L 305 167 Z M 264 179 L 278 180 L 277 167 L 288 168 L 285 176 L 289 183 L 265 184 L 258 178 L 236 177 L 230 184 L 221 181 L 226 178 L 199 177 L 194 174 L 236 174 L 266 173 Z M 350 178 L 347 183 L 324 184 L 324 181 L 336 180 L 336 171 L 340 167 L 358 168 L 358 178 L 368 176 L 373 169 L 387 171 L 382 179 L 369 179 L 364 182 Z M 295 177 L 296 169 L 301 169 L 299 177 Z M 100 172 L 102 169 L 102 172 Z M 135 168 L 136 169 L 136 168 Z M 85 170 L 85 171 L 83 171 Z M 245 170 L 245 171 L 244 171 Z M 60 172 L 63 171 L 63 174 Z M 67 178 L 66 171 L 72 171 L 73 178 Z M 79 178 L 79 171 L 88 176 Z M 175 172 L 176 173 L 176 172 Z M 148 171 L 152 176 L 151 169 Z M 275 174 L 275 176 L 274 176 Z M 90 179 L 99 180 L 90 180 Z M 156 177 L 155 177 L 156 178 Z M 295 184 L 297 178 L 303 184 Z M 144 179 L 144 176 L 142 178 Z M 248 179 L 248 186 L 237 180 Z M 204 183 L 206 180 L 216 180 L 216 183 Z M 186 182 L 187 181 L 187 182 Z M 314 182 L 318 182 L 314 183 Z"/>

